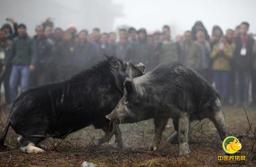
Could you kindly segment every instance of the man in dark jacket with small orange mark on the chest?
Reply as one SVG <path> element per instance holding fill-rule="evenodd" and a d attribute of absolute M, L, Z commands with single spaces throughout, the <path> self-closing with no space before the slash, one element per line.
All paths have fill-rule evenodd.
<path fill-rule="evenodd" d="M 75 43 L 72 40 L 72 34 L 69 31 L 64 32 L 63 41 L 56 48 L 56 68 L 57 80 L 65 80 L 73 72 L 73 58 L 75 53 Z"/>

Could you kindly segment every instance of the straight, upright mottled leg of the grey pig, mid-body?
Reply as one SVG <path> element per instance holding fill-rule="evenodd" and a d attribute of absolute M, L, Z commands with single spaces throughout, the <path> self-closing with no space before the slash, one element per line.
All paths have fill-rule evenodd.
<path fill-rule="evenodd" d="M 188 155 L 190 149 L 188 147 L 188 130 L 189 115 L 181 115 L 178 121 L 178 140 L 180 143 L 180 155 Z"/>

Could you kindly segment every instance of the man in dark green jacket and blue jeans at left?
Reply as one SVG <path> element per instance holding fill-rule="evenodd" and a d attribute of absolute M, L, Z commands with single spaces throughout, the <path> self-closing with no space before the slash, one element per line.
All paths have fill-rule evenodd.
<path fill-rule="evenodd" d="M 29 88 L 30 72 L 35 70 L 37 59 L 36 46 L 27 34 L 24 24 L 18 25 L 18 36 L 14 38 L 10 55 L 6 65 L 13 63 L 10 76 L 10 101 L 13 103 L 17 97 L 18 85 L 21 92 Z"/>

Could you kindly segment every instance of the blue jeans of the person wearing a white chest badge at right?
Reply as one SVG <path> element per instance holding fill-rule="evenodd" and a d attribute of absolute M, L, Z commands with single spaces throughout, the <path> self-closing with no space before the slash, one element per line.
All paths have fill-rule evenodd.
<path fill-rule="evenodd" d="M 249 71 L 235 71 L 235 101 L 236 105 L 248 104 L 249 96 Z"/>

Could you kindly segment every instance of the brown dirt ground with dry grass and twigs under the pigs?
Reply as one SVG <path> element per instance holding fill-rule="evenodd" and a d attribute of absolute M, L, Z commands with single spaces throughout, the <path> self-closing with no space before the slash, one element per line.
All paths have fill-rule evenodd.
<path fill-rule="evenodd" d="M 252 131 L 256 129 L 256 109 L 246 107 L 246 113 L 252 123 Z M 80 167 L 84 161 L 92 162 L 100 167 L 171 167 L 171 166 L 223 166 L 219 163 L 232 163 L 230 166 L 256 166 L 256 145 L 254 134 L 249 129 L 246 114 L 242 107 L 223 107 L 229 133 L 232 136 L 242 135 L 242 149 L 234 155 L 245 155 L 246 161 L 218 161 L 218 156 L 224 156 L 222 141 L 212 122 L 204 119 L 194 121 L 190 129 L 189 156 L 178 156 L 178 145 L 167 144 L 165 141 L 174 131 L 172 119 L 169 120 L 162 136 L 162 145 L 157 151 L 148 151 L 153 136 L 153 121 L 120 125 L 124 148 L 119 149 L 111 139 L 109 143 L 97 145 L 103 132 L 94 127 L 86 127 L 72 133 L 66 139 L 47 139 L 44 145 L 46 153 L 27 154 L 19 149 L 17 135 L 9 129 L 6 145 L 8 149 L 0 149 L 0 166 L 22 167 Z M 8 109 L 1 108 L 0 129 L 6 123 Z M 2 133 L 2 131 L 1 131 Z"/>

